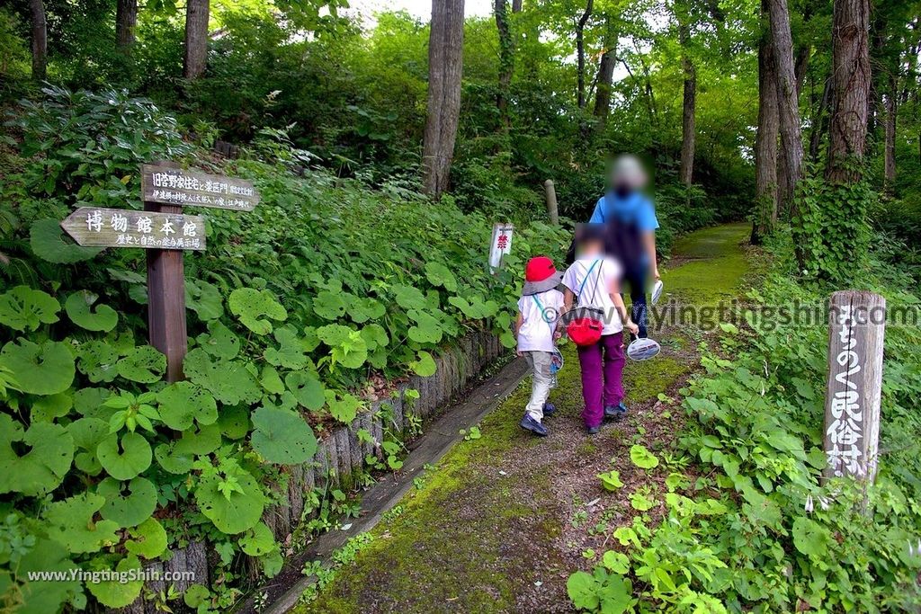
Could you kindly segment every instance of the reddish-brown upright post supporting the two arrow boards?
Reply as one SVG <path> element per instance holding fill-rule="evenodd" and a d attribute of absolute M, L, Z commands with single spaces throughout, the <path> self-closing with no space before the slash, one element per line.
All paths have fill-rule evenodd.
<path fill-rule="evenodd" d="M 172 204 L 144 203 L 146 211 L 181 214 Z M 185 268 L 181 249 L 147 249 L 147 329 L 150 344 L 167 356 L 167 381 L 183 378 L 188 352 L 185 326 Z"/>

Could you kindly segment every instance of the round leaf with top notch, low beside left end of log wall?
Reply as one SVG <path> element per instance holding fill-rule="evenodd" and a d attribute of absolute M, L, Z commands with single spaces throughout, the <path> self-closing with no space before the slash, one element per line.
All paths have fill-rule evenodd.
<path fill-rule="evenodd" d="M 230 491 L 227 496 L 221 491 L 223 480 L 219 475 L 203 478 L 195 489 L 195 501 L 202 514 L 217 530 L 231 535 L 255 527 L 265 507 L 259 483 L 248 471 L 239 469 L 233 477 L 239 490 Z"/>

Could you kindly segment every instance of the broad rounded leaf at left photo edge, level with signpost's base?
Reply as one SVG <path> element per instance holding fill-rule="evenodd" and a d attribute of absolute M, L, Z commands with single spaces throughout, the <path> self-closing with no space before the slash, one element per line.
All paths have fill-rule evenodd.
<path fill-rule="evenodd" d="M 70 388 L 76 374 L 74 356 L 63 342 L 39 345 L 25 339 L 0 351 L 0 366 L 9 369 L 17 387 L 29 394 L 57 394 Z"/>

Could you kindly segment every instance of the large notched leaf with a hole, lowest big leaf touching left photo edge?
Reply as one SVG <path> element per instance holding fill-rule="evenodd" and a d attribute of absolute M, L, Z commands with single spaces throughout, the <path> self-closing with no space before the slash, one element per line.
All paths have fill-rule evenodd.
<path fill-rule="evenodd" d="M 13 448 L 29 446 L 19 456 Z M 62 481 L 74 458 L 74 438 L 59 424 L 33 423 L 28 431 L 0 413 L 0 492 L 38 496 Z"/>

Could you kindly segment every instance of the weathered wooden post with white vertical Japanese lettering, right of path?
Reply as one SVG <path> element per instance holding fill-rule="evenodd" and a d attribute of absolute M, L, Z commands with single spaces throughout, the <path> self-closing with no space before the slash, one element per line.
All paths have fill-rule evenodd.
<path fill-rule="evenodd" d="M 882 296 L 855 290 L 832 295 L 823 439 L 826 480 L 876 478 L 885 328 Z"/>

